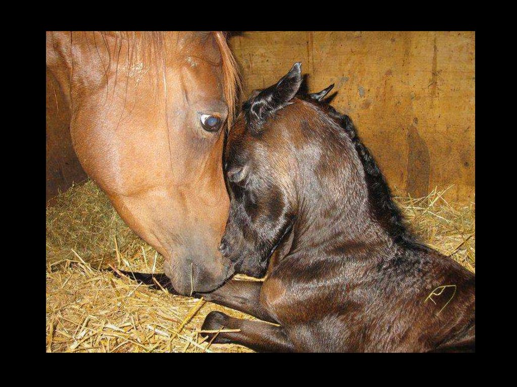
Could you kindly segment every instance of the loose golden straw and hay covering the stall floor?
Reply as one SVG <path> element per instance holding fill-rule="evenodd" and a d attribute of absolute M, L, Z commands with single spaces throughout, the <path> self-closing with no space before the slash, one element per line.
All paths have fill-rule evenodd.
<path fill-rule="evenodd" d="M 423 242 L 474 272 L 475 204 L 449 204 L 445 191 L 396 199 Z M 47 351 L 252 352 L 210 345 L 199 331 L 210 311 L 253 317 L 100 270 L 159 272 L 162 263 L 94 182 L 61 194 L 47 209 Z"/>

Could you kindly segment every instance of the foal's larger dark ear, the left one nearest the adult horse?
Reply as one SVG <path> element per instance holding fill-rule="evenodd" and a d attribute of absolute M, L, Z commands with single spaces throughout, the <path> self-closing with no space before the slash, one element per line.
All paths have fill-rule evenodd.
<path fill-rule="evenodd" d="M 301 81 L 301 63 L 296 62 L 275 85 L 252 97 L 245 104 L 246 118 L 251 129 L 258 131 L 267 117 L 286 106 L 298 92 Z"/>

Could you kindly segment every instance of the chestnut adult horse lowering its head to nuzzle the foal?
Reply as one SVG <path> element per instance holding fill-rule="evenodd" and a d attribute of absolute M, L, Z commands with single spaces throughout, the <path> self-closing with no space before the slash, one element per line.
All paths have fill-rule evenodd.
<path fill-rule="evenodd" d="M 178 292 L 216 288 L 233 272 L 217 246 L 237 84 L 221 32 L 48 32 L 47 197 L 80 163 Z"/>

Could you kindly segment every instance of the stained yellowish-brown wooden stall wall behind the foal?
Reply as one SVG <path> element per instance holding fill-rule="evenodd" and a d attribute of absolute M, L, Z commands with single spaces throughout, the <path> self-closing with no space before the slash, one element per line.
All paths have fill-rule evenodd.
<path fill-rule="evenodd" d="M 454 184 L 475 195 L 474 32 L 242 32 L 230 39 L 245 96 L 302 62 L 309 91 L 335 83 L 392 188 L 413 197 Z"/>

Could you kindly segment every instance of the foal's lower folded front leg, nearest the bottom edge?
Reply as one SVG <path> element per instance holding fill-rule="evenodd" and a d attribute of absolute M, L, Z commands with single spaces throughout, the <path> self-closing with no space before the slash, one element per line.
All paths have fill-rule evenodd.
<path fill-rule="evenodd" d="M 216 344 L 240 344 L 258 352 L 294 352 L 294 345 L 282 327 L 262 321 L 242 320 L 221 312 L 210 312 L 203 322 L 203 331 L 240 329 L 240 332 L 208 334 Z"/>

